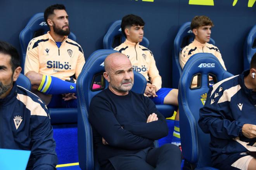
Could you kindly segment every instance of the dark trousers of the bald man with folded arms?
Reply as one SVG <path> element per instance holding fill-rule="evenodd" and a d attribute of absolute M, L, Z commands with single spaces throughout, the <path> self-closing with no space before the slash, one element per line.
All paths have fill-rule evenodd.
<path fill-rule="evenodd" d="M 164 144 L 160 148 L 142 150 L 137 154 L 115 156 L 104 170 L 180 170 L 182 154 L 173 144 Z"/>

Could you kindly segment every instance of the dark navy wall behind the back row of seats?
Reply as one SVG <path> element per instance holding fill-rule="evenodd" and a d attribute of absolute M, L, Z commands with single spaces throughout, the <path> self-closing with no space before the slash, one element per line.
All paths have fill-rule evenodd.
<path fill-rule="evenodd" d="M 256 24 L 255 0 L 0 0 L 0 39 L 20 52 L 19 33 L 30 17 L 54 3 L 66 6 L 70 29 L 85 58 L 103 48 L 103 37 L 112 22 L 131 13 L 142 17 L 146 23 L 144 36 L 150 41 L 149 49 L 154 54 L 163 87 L 172 86 L 173 41 L 184 22 L 191 21 L 195 15 L 211 18 L 215 25 L 211 38 L 232 74 L 243 70 L 244 41 Z"/>

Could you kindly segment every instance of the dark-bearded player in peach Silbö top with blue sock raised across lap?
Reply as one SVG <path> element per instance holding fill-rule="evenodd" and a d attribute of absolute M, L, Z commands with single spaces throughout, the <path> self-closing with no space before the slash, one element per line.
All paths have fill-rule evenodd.
<path fill-rule="evenodd" d="M 30 41 L 24 73 L 32 91 L 47 105 L 51 101 L 48 107 L 77 107 L 75 81 L 85 64 L 83 50 L 67 38 L 70 30 L 64 5 L 51 5 L 44 18 L 50 31 Z"/>

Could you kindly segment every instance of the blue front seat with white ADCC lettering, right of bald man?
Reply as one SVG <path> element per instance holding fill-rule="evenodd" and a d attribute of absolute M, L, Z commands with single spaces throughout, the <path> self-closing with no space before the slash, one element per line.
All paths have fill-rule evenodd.
<path fill-rule="evenodd" d="M 192 77 L 197 73 L 201 77 L 201 84 L 198 88 L 190 88 Z M 215 75 L 216 82 L 233 76 L 223 69 L 214 55 L 197 53 L 190 57 L 185 64 L 179 81 L 178 101 L 182 155 L 185 162 L 188 162 L 185 167 L 189 165 L 197 170 L 216 170 L 216 168 L 211 168 L 210 135 L 204 134 L 197 123 L 199 109 L 203 107 L 206 93 L 209 91 L 208 74 Z"/>

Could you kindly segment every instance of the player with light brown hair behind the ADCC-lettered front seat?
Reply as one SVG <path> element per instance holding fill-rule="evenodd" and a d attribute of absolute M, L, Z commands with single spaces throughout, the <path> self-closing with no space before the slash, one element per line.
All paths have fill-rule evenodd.
<path fill-rule="evenodd" d="M 180 60 L 180 66 L 182 67 L 182 69 L 186 64 L 187 60 L 189 60 L 189 58 L 192 55 L 196 53 L 211 53 L 218 58 L 222 67 L 225 70 L 227 70 L 222 60 L 220 50 L 216 46 L 208 43 L 211 37 L 211 27 L 213 26 L 214 25 L 211 19 L 209 19 L 209 17 L 206 17 L 204 15 L 195 16 L 192 19 L 190 27 L 192 32 L 195 35 L 195 39 L 192 43 L 185 46 L 180 51 L 179 60 Z M 210 77 L 209 79 L 209 81 L 211 82 L 210 85 L 214 84 L 212 80 L 213 80 L 212 77 Z M 196 87 L 196 84 L 197 84 L 197 76 L 195 76 L 193 79 L 192 87 Z"/>

